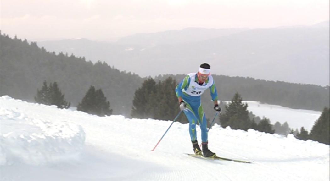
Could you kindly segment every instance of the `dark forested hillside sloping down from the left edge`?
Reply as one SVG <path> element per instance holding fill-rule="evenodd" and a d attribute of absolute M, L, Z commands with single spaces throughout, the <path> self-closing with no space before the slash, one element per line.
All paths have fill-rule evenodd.
<path fill-rule="evenodd" d="M 143 80 L 106 63 L 93 64 L 84 57 L 50 53 L 36 43 L 1 35 L 1 95 L 34 102 L 43 81 L 56 81 L 72 106 L 77 106 L 88 88 L 101 88 L 114 114 L 130 115 L 135 89 Z"/>

